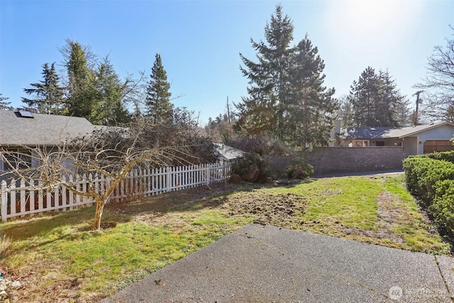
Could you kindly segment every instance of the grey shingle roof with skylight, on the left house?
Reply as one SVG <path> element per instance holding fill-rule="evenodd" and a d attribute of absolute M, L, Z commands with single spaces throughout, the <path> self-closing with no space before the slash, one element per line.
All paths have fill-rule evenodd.
<path fill-rule="evenodd" d="M 33 113 L 33 118 L 25 118 L 0 111 L 0 145 L 59 145 L 103 127 L 79 117 Z"/>

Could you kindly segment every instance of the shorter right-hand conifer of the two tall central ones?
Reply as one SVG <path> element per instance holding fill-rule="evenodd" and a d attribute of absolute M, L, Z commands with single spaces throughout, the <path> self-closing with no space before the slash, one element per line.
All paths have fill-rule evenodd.
<path fill-rule="evenodd" d="M 325 64 L 318 48 L 306 37 L 297 45 L 289 65 L 288 100 L 283 103 L 287 143 L 326 146 L 333 128 L 338 102 L 334 89 L 323 86 Z"/>

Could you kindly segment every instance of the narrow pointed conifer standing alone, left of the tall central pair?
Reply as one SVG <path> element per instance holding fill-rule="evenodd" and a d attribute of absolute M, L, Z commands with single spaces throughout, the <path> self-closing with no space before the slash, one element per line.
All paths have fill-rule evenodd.
<path fill-rule="evenodd" d="M 167 82 L 167 73 L 162 66 L 161 56 L 156 54 L 145 99 L 147 115 L 155 123 L 172 118 L 172 103 L 170 103 L 172 94 L 169 89 L 170 83 Z"/>

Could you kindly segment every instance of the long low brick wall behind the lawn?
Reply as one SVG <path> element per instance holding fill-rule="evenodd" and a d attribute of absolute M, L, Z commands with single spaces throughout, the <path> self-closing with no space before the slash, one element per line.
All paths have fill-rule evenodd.
<path fill-rule="evenodd" d="M 267 156 L 273 177 L 281 177 L 294 157 L 302 157 L 314 166 L 314 176 L 331 173 L 369 172 L 402 169 L 407 157 L 402 146 L 368 148 L 314 148 L 311 152 L 294 156 Z"/>

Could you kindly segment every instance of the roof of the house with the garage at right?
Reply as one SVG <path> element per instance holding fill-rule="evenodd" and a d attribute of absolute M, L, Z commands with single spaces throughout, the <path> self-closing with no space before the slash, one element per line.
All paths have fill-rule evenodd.
<path fill-rule="evenodd" d="M 454 126 L 452 123 L 443 122 L 438 124 L 425 124 L 417 126 L 408 126 L 402 128 L 392 127 L 348 127 L 341 128 L 341 132 L 338 133 L 338 137 L 341 139 L 384 139 L 384 138 L 403 138 L 406 136 L 414 135 L 421 131 L 426 131 L 429 128 L 436 128 L 438 126 L 449 124 Z"/>

